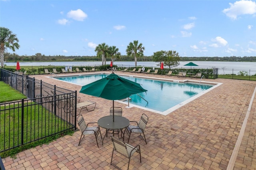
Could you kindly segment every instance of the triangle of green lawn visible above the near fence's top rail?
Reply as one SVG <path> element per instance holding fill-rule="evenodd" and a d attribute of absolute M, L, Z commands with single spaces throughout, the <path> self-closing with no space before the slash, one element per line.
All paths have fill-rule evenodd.
<path fill-rule="evenodd" d="M 8 101 L 17 101 L 20 99 L 26 99 L 27 97 L 19 91 L 12 88 L 10 85 L 0 81 L 0 103 Z"/>

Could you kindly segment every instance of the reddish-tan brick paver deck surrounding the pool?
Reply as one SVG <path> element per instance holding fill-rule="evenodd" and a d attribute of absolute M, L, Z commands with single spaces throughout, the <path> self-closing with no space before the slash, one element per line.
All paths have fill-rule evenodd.
<path fill-rule="evenodd" d="M 92 72 L 89 72 L 92 73 Z M 95 72 L 95 73 L 98 73 Z M 176 80 L 200 80 L 198 78 L 153 75 L 145 73 L 121 72 L 118 74 L 140 75 Z M 75 75 L 86 73 L 66 73 Z M 95 101 L 94 111 L 83 115 L 86 123 L 97 122 L 100 117 L 109 115 L 112 101 L 79 93 L 81 86 L 49 79 L 49 75 L 33 75 L 36 79 L 58 87 L 77 90 L 81 101 Z M 122 107 L 123 116 L 130 121 L 139 121 L 142 113 L 149 117 L 145 129 L 148 144 L 139 135 L 132 135 L 129 144 L 140 144 L 142 162 L 138 154 L 131 158 L 130 169 L 139 170 L 252 170 L 256 169 L 256 81 L 232 79 L 205 79 L 223 83 L 190 103 L 168 115 L 153 113 L 137 107 Z M 101 129 L 102 137 L 105 130 Z M 85 136 L 78 146 L 81 132 L 63 136 L 56 141 L 36 146 L 16 155 L 16 158 L 3 158 L 6 169 L 45 169 L 45 170 L 109 170 L 112 143 L 110 138 L 98 137 L 99 148 L 93 135 Z M 127 142 L 125 134 L 124 141 Z M 120 160 L 118 166 L 127 169 L 128 159 Z M 115 163 L 115 162 L 114 162 Z"/>

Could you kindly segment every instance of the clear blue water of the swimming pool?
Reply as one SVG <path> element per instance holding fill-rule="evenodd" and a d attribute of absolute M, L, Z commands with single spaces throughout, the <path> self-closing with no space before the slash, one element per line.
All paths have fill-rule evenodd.
<path fill-rule="evenodd" d="M 74 83 L 77 85 L 86 85 L 96 80 L 108 76 L 107 74 L 80 75 L 69 77 L 56 77 L 56 79 Z M 119 75 L 120 76 L 120 75 Z M 120 76 L 142 85 L 148 90 L 146 93 L 139 93 L 148 103 L 138 95 L 132 95 L 130 104 L 146 107 L 156 111 L 164 112 L 171 107 L 178 105 L 198 95 L 207 89 L 213 87 L 209 84 L 197 83 L 176 83 L 170 81 L 160 81 L 153 79 L 142 79 L 138 77 Z M 128 103 L 128 101 L 126 101 Z"/>

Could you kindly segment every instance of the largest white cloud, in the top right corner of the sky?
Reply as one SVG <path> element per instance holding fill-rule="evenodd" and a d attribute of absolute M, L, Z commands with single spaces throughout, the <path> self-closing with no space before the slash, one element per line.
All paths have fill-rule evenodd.
<path fill-rule="evenodd" d="M 232 20 L 236 20 L 239 15 L 256 13 L 256 2 L 251 0 L 240 0 L 234 4 L 229 3 L 229 5 L 230 8 L 226 8 L 222 12 Z"/>

